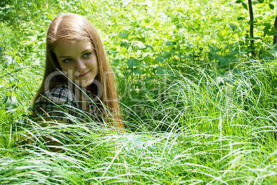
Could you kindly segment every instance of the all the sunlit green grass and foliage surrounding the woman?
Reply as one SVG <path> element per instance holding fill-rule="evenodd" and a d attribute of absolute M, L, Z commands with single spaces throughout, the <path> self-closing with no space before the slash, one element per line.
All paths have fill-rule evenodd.
<path fill-rule="evenodd" d="M 236 1 L 3 1 L 0 184 L 277 184 L 277 52 L 265 34 L 276 7 L 254 3 L 251 46 Z M 45 32 L 62 12 L 99 31 L 126 133 L 30 119 Z"/>

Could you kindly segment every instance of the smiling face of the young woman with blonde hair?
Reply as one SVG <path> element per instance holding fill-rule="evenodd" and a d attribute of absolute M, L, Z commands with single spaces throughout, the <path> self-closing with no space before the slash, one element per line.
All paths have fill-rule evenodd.
<path fill-rule="evenodd" d="M 81 87 L 92 84 L 98 73 L 97 58 L 92 43 L 59 41 L 54 47 L 57 61 L 72 82 Z"/>

